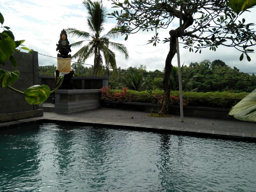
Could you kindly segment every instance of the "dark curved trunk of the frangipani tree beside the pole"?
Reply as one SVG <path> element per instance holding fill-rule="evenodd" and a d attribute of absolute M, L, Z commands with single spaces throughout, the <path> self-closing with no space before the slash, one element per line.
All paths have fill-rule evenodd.
<path fill-rule="evenodd" d="M 164 73 L 164 79 L 163 79 L 164 98 L 162 103 L 162 109 L 159 112 L 159 114 L 162 114 L 162 115 L 166 115 L 168 113 L 168 104 L 170 100 L 169 79 L 170 79 L 170 73 L 173 68 L 172 59 L 177 52 L 177 48 L 176 48 L 176 37 L 178 37 L 177 29 L 170 30 L 169 34 L 170 34 L 170 49 L 165 60 L 165 73 Z"/>

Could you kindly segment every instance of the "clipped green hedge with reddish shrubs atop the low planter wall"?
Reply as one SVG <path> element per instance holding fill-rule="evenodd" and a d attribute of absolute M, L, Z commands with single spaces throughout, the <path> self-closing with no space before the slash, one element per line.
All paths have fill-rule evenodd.
<path fill-rule="evenodd" d="M 101 100 L 118 102 L 138 102 L 138 103 L 157 103 L 157 99 L 152 95 L 158 96 L 161 90 L 153 90 L 152 95 L 147 91 L 116 90 L 104 88 Z M 230 92 L 183 92 L 183 103 L 186 106 L 212 107 L 230 109 L 249 93 L 230 93 Z M 121 98 L 121 99 L 120 99 Z M 161 101 L 162 97 L 159 97 Z M 170 104 L 179 105 L 179 91 L 170 92 Z"/>

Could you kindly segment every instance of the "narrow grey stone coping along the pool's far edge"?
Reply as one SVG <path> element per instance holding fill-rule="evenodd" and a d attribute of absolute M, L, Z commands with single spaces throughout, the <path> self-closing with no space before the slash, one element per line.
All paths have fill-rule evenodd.
<path fill-rule="evenodd" d="M 154 126 L 154 125 L 144 125 L 144 124 L 92 121 L 92 120 L 82 120 L 82 119 L 74 119 L 74 118 L 60 118 L 57 116 L 56 117 L 41 116 L 41 117 L 34 117 L 29 119 L 4 122 L 4 123 L 0 123 L 0 129 L 15 126 L 15 125 L 26 124 L 26 123 L 39 122 L 39 121 L 73 122 L 73 123 L 86 124 L 86 125 L 122 127 L 122 128 L 143 129 L 143 130 L 158 130 L 158 131 L 168 131 L 170 133 L 177 133 L 177 134 L 235 138 L 235 139 L 256 141 L 256 134 L 253 135 L 249 133 L 233 133 L 233 132 L 222 132 L 222 131 L 214 131 L 214 130 L 188 129 L 188 128 Z"/>

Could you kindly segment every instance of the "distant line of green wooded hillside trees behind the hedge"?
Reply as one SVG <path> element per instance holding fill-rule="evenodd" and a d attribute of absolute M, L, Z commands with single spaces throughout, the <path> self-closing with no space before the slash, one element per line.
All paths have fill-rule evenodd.
<path fill-rule="evenodd" d="M 93 67 L 85 67 L 81 63 L 73 63 L 71 68 L 75 71 L 75 76 L 92 76 Z M 39 67 L 39 74 L 54 75 L 56 66 Z M 182 84 L 184 91 L 212 92 L 251 92 L 256 89 L 255 74 L 240 72 L 238 68 L 226 65 L 221 60 L 204 60 L 201 62 L 191 62 L 183 65 Z M 129 67 L 127 69 L 108 69 L 101 67 L 100 75 L 109 76 L 109 84 L 112 89 L 123 89 L 125 87 L 136 90 L 163 89 L 164 71 L 147 71 L 146 65 L 139 67 Z M 170 76 L 170 86 L 173 91 L 179 90 L 178 69 L 173 67 Z"/>

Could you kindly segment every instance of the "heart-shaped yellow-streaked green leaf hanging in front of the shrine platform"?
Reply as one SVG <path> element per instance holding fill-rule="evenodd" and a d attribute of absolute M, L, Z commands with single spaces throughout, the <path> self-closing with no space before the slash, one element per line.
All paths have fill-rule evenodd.
<path fill-rule="evenodd" d="M 47 85 L 34 85 L 25 91 L 25 99 L 30 104 L 41 104 L 50 95 L 50 88 Z"/>

